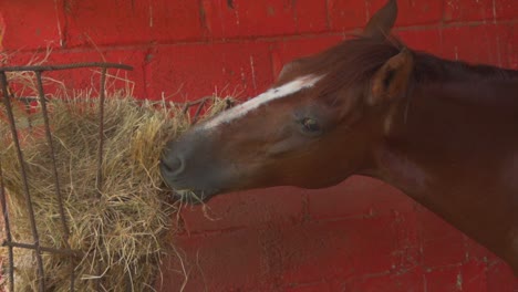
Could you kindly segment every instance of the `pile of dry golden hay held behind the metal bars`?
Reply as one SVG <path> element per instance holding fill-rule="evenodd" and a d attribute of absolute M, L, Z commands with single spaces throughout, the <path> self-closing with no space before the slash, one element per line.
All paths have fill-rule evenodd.
<path fill-rule="evenodd" d="M 86 95 L 86 96 L 84 96 Z M 216 98 L 208 116 L 222 109 Z M 103 184 L 96 188 L 99 103 L 89 94 L 49 103 L 59 180 L 70 234 L 63 236 L 55 196 L 52 159 L 43 132 L 40 105 L 31 115 L 17 113 L 40 243 L 82 253 L 70 257 L 43 252 L 45 291 L 70 291 L 74 269 L 76 291 L 95 291 L 101 278 L 106 291 L 149 291 L 160 274 L 160 257 L 170 252 L 175 228 L 169 192 L 158 170 L 160 150 L 184 132 L 189 115 L 174 104 L 137 103 L 125 93 L 105 102 Z M 159 107 L 157 109 L 157 107 Z M 0 106 L 3 108 L 3 106 Z M 0 112 L 0 159 L 8 191 L 11 232 L 15 242 L 33 242 L 23 196 L 20 164 L 9 125 Z M 7 249 L 3 248 L 3 255 Z M 15 291 L 37 291 L 37 261 L 32 251 L 14 249 Z M 6 258 L 6 257 L 4 257 Z M 4 261 L 7 262 L 7 261 Z M 102 273 L 99 273 L 101 262 Z M 7 277 L 7 274 L 4 274 Z"/>

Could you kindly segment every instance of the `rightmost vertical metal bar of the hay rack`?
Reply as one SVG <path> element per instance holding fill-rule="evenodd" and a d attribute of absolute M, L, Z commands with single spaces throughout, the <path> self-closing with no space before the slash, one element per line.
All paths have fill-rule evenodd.
<path fill-rule="evenodd" d="M 105 96 L 105 86 L 106 86 L 106 67 L 103 67 L 101 71 L 101 88 L 99 96 L 99 155 L 97 155 L 97 198 L 99 204 L 101 204 L 102 188 L 103 188 L 103 153 L 104 153 L 104 100 Z M 103 238 L 100 236 L 97 247 L 103 246 Z M 97 260 L 97 279 L 95 280 L 95 286 L 97 291 L 102 291 L 101 285 L 101 273 L 102 264 L 101 259 Z"/>

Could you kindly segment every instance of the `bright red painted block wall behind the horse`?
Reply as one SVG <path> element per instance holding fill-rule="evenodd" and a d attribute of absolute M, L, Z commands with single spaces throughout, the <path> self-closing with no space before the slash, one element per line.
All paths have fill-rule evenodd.
<path fill-rule="evenodd" d="M 356 31 L 383 2 L 4 0 L 0 48 L 13 63 L 49 44 L 50 62 L 131 64 L 142 98 L 245 97 L 282 63 Z M 518 69 L 517 0 L 398 2 L 396 33 L 412 48 Z M 90 84 L 80 76 L 61 75 Z M 211 219 L 198 207 L 182 213 L 185 291 L 518 291 L 503 261 L 380 181 L 231 194 L 208 207 Z M 183 284 L 175 262 L 164 263 L 163 291 Z"/>

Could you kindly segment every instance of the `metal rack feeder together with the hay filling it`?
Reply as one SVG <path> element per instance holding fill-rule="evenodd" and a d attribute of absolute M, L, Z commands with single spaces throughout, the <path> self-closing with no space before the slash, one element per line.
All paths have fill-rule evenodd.
<path fill-rule="evenodd" d="M 42 74 L 79 67 L 101 69 L 99 96 L 48 100 Z M 110 63 L 0 67 L 2 277 L 9 291 L 153 291 L 160 255 L 174 250 L 178 204 L 162 187 L 160 149 L 207 101 L 210 116 L 231 100 L 177 105 L 127 94 L 107 98 L 108 69 L 131 70 Z M 20 100 L 8 81 L 13 72 L 35 77 L 35 114 L 17 111 Z M 190 106 L 197 106 L 194 118 Z"/>

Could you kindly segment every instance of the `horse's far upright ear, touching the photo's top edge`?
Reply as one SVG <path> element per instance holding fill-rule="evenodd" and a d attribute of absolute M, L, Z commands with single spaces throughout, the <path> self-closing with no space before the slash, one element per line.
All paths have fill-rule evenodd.
<path fill-rule="evenodd" d="M 374 15 L 372 15 L 369 23 L 363 30 L 363 35 L 370 38 L 385 39 L 391 34 L 392 27 L 394 27 L 397 18 L 397 2 L 396 0 L 388 0 L 388 2 Z"/>

